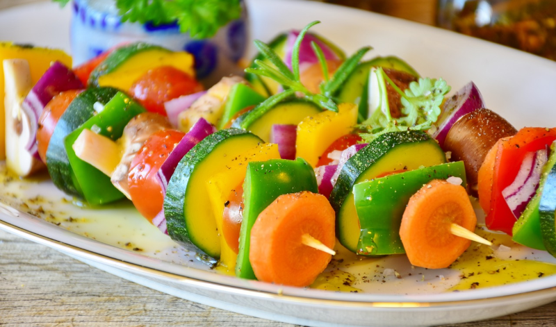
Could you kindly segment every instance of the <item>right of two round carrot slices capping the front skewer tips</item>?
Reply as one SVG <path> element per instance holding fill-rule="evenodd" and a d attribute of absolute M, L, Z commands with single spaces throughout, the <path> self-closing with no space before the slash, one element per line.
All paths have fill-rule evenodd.
<path fill-rule="evenodd" d="M 471 245 L 452 235 L 457 224 L 475 230 L 477 217 L 465 188 L 434 180 L 411 196 L 400 226 L 400 238 L 411 265 L 446 268 Z"/>

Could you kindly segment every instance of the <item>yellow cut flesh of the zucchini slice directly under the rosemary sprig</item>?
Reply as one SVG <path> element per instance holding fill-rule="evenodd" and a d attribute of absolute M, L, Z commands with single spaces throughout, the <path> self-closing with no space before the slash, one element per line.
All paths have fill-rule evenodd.
<path fill-rule="evenodd" d="M 270 131 L 274 124 L 297 125 L 305 117 L 318 114 L 320 110 L 311 103 L 290 102 L 281 103 L 266 112 L 261 118 L 257 119 L 249 130 L 265 142 L 270 142 Z"/>

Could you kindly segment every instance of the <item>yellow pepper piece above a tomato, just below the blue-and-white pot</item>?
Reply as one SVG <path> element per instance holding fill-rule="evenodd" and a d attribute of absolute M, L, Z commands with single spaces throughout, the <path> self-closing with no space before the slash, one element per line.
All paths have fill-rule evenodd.
<path fill-rule="evenodd" d="M 152 49 L 137 53 L 113 72 L 100 76 L 99 86 L 116 87 L 127 92 L 142 75 L 150 69 L 161 66 L 172 66 L 190 76 L 195 76 L 193 56 L 190 53 Z"/>

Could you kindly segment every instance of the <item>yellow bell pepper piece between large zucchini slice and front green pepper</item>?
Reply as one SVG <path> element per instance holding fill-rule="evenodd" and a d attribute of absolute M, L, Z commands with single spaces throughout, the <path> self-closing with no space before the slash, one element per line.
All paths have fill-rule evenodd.
<path fill-rule="evenodd" d="M 224 203 L 228 201 L 229 194 L 238 185 L 243 183 L 245 179 L 245 172 L 247 171 L 247 164 L 252 161 L 266 161 L 270 159 L 279 159 L 280 153 L 278 152 L 277 144 L 261 144 L 250 149 L 249 151 L 234 158 L 224 171 L 215 174 L 206 184 L 208 196 L 211 199 L 212 208 L 214 211 L 214 219 L 216 228 L 218 228 L 218 237 L 220 238 L 220 271 L 231 276 L 235 276 L 236 259 L 238 258 L 235 253 L 224 239 L 222 230 L 222 214 L 224 212 Z"/>

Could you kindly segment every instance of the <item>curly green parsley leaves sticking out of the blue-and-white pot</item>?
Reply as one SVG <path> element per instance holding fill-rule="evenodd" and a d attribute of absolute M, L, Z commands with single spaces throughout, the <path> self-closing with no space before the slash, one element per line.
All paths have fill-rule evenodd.
<path fill-rule="evenodd" d="M 70 0 L 53 0 L 65 6 Z M 240 0 L 115 0 L 122 22 L 177 22 L 182 33 L 206 38 L 241 15 Z"/>

